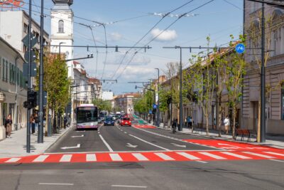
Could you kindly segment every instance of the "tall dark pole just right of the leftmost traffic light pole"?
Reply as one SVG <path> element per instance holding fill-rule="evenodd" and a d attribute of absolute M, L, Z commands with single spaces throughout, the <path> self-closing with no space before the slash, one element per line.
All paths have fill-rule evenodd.
<path fill-rule="evenodd" d="M 41 0 L 40 14 L 40 84 L 39 84 L 39 126 L 38 143 L 43 143 L 43 0 Z M 46 125 L 46 124 L 45 124 Z"/>

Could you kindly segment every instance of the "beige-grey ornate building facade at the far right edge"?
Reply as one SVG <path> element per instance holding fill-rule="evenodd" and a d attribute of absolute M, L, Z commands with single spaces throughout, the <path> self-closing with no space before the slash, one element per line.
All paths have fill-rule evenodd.
<path fill-rule="evenodd" d="M 261 46 L 253 43 L 250 35 L 252 27 L 258 27 L 261 3 L 245 1 L 244 31 L 248 36 L 249 48 Z M 271 134 L 284 134 L 284 10 L 275 6 L 265 6 L 266 23 L 266 132 Z M 267 26 L 269 25 L 270 28 Z M 258 36 L 261 33 L 258 32 Z M 258 47 L 259 48 L 259 47 Z M 258 102 L 260 100 L 261 75 L 256 58 L 260 59 L 260 51 L 254 51 L 258 56 L 253 56 L 253 51 L 247 51 L 245 60 L 250 67 L 246 70 L 244 80 L 244 96 L 242 101 L 242 125 L 250 130 L 257 130 Z"/>

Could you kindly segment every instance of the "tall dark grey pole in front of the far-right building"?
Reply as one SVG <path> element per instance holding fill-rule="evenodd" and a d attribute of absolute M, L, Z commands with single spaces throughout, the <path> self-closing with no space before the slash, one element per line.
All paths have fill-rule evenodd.
<path fill-rule="evenodd" d="M 266 142 L 266 68 L 264 65 L 264 52 L 266 47 L 264 3 L 262 3 L 261 14 L 261 142 Z"/>

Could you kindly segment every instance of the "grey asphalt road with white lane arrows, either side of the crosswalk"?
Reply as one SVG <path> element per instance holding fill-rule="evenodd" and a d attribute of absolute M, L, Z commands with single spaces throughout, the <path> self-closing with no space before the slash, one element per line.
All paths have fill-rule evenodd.
<path fill-rule="evenodd" d="M 48 152 L 217 151 L 160 129 L 70 129 Z M 77 146 L 80 144 L 80 146 Z M 0 164 L 0 189 L 284 189 L 283 160 Z"/>

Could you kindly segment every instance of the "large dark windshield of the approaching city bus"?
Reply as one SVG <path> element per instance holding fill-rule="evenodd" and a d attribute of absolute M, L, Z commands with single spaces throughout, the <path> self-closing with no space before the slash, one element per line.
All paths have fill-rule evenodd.
<path fill-rule="evenodd" d="M 97 122 L 97 107 L 77 107 L 77 123 Z"/>

